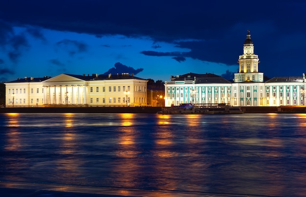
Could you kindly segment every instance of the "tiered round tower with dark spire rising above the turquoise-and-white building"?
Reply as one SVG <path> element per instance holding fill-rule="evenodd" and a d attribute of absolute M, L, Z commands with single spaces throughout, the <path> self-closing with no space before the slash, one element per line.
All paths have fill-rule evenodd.
<path fill-rule="evenodd" d="M 246 40 L 243 44 L 243 54 L 239 56 L 239 72 L 235 73 L 235 83 L 263 82 L 263 73 L 259 72 L 258 55 L 254 54 L 254 44 L 251 40 L 250 31 L 247 30 Z"/>

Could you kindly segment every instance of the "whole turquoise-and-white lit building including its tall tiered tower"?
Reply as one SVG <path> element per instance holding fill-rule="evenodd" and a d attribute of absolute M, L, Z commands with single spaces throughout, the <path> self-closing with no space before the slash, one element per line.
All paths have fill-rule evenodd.
<path fill-rule="evenodd" d="M 298 77 L 274 77 L 263 82 L 259 72 L 259 58 L 254 54 L 250 32 L 239 56 L 239 72 L 233 82 L 218 75 L 187 73 L 172 76 L 165 82 L 165 106 L 182 103 L 232 106 L 304 106 L 305 74 Z"/>

